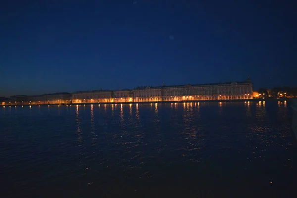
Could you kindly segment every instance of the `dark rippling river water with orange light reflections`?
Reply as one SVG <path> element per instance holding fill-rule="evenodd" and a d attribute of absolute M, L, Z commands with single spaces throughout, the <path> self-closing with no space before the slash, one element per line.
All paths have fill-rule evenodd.
<path fill-rule="evenodd" d="M 0 197 L 295 197 L 287 103 L 0 108 Z"/>

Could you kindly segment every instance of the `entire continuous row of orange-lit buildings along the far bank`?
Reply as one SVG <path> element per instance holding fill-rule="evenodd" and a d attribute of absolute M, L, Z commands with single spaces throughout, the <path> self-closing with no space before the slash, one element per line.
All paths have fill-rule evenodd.
<path fill-rule="evenodd" d="M 45 94 L 39 96 L 11 96 L 2 105 L 20 104 L 70 104 L 70 103 L 121 103 L 157 101 L 197 101 L 253 99 L 253 84 L 244 82 L 179 85 L 160 87 L 139 87 L 134 90 L 100 90 L 69 93 Z"/>

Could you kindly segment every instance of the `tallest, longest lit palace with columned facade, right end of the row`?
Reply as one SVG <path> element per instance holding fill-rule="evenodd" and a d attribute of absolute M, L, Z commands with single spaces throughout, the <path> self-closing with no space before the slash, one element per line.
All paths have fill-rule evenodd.
<path fill-rule="evenodd" d="M 135 102 L 252 99 L 252 83 L 245 82 L 140 87 L 132 91 Z"/>

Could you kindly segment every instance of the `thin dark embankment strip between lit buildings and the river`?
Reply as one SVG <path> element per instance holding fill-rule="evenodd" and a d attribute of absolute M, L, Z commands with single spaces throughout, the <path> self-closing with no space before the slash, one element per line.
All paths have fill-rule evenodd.
<path fill-rule="evenodd" d="M 55 105 L 85 105 L 85 104 L 150 104 L 150 103 L 184 103 L 184 102 L 243 102 L 243 101 L 285 101 L 290 99 L 222 99 L 222 100 L 181 100 L 181 101 L 145 101 L 145 102 L 93 102 L 93 103 L 61 103 L 61 104 L 6 104 L 0 106 L 55 106 Z"/>

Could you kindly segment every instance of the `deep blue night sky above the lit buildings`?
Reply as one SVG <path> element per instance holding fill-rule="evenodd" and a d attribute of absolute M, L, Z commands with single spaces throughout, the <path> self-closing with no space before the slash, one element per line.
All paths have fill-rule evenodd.
<path fill-rule="evenodd" d="M 0 96 L 245 80 L 297 86 L 287 0 L 2 0 Z"/>

